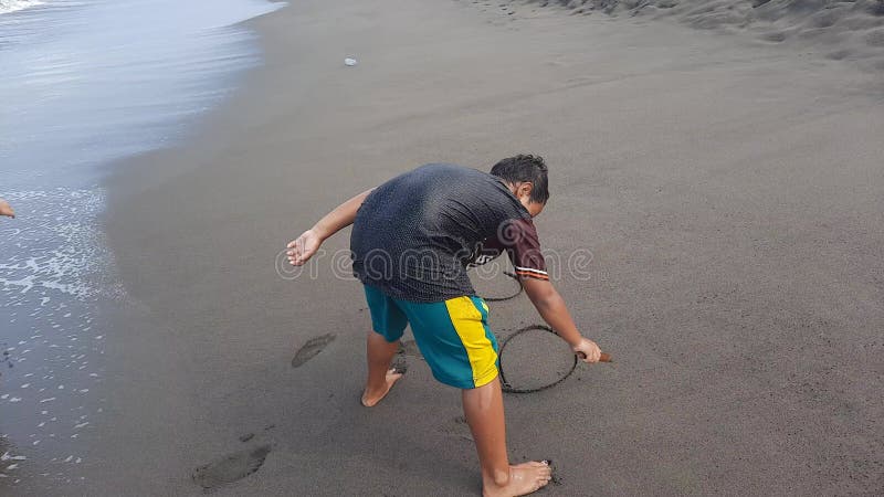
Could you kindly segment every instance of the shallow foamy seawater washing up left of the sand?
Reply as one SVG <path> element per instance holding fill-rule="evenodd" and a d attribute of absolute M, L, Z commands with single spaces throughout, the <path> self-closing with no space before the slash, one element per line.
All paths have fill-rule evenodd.
<path fill-rule="evenodd" d="M 0 60 L 9 70 L 0 87 L 28 96 L 9 101 L 10 126 L 0 126 L 0 195 L 20 214 L 0 222 L 0 493 L 71 490 L 85 478 L 82 468 L 101 465 L 92 459 L 94 441 L 115 403 L 104 391 L 105 343 L 115 335 L 106 318 L 125 292 L 104 244 L 105 190 L 97 183 L 113 158 L 117 165 L 169 135 L 186 141 L 177 131 L 253 59 L 250 34 L 209 30 L 273 8 L 213 2 L 197 20 L 152 22 L 167 20 L 160 4 L 62 1 L 0 14 Z M 53 30 L 56 36 L 40 36 Z M 101 43 L 125 36 L 131 43 L 118 50 Z M 199 67 L 187 74 L 164 72 L 193 61 Z"/>

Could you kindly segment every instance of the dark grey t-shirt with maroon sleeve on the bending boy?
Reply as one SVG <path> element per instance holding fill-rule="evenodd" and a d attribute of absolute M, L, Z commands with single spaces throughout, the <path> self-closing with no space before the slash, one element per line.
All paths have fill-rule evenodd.
<path fill-rule="evenodd" d="M 509 253 L 520 277 L 548 279 L 530 214 L 503 181 L 431 163 L 372 191 L 350 236 L 354 274 L 411 302 L 475 295 L 469 265 Z"/>

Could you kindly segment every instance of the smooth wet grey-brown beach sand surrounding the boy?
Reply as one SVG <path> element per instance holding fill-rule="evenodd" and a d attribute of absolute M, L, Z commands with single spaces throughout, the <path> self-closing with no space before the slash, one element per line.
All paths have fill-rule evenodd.
<path fill-rule="evenodd" d="M 548 495 L 884 488 L 880 74 L 642 17 L 347 3 L 252 21 L 265 66 L 108 180 L 129 302 L 93 495 L 478 494 L 460 392 L 420 359 L 359 405 L 348 233 L 314 277 L 277 256 L 393 175 L 518 152 L 550 168 L 556 286 L 617 361 L 507 396 L 512 459 L 554 459 Z M 491 316 L 502 337 L 539 322 L 525 296 Z M 541 356 L 526 373 L 561 364 Z"/>

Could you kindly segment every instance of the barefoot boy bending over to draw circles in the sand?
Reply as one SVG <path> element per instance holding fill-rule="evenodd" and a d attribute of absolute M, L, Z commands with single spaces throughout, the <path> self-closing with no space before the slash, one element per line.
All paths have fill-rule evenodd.
<path fill-rule="evenodd" d="M 362 405 L 377 404 L 402 377 L 390 363 L 411 325 L 436 380 L 462 389 L 485 496 L 530 494 L 549 483 L 551 472 L 546 462 L 509 465 L 497 342 L 466 267 L 506 251 L 528 298 L 575 353 L 586 362 L 601 353 L 577 330 L 546 273 L 532 218 L 548 198 L 540 157 L 504 159 L 491 175 L 427 165 L 354 197 L 288 244 L 290 263 L 303 265 L 325 239 L 354 225 L 352 268 L 373 328 Z"/>

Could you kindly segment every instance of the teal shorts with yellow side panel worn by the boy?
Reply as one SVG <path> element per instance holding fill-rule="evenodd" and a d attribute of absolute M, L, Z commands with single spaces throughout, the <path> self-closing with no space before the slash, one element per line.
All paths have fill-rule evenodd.
<path fill-rule="evenodd" d="M 497 340 L 488 328 L 488 306 L 482 298 L 415 303 L 389 297 L 373 286 L 365 285 L 365 289 L 375 331 L 392 343 L 410 324 L 436 380 L 474 389 L 497 378 Z"/>

